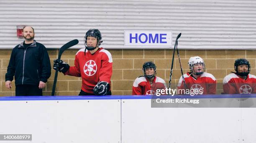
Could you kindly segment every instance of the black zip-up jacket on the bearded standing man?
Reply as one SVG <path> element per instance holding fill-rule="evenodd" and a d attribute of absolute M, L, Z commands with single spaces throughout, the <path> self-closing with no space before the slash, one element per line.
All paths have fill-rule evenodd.
<path fill-rule="evenodd" d="M 51 76 L 51 63 L 46 47 L 34 42 L 25 50 L 23 43 L 13 48 L 5 81 L 12 81 L 15 75 L 15 85 L 38 85 L 39 81 L 47 82 Z"/>

